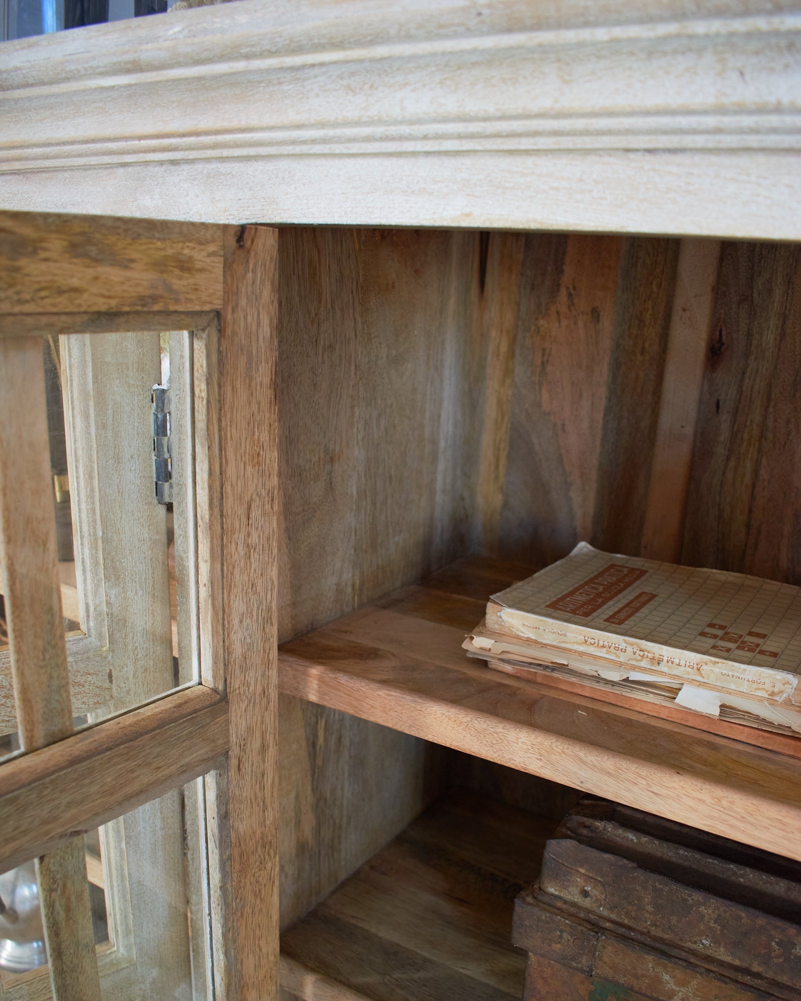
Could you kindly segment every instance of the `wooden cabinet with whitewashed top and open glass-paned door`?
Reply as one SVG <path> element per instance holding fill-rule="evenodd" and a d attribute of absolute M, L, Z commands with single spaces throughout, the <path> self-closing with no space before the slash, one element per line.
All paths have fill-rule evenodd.
<path fill-rule="evenodd" d="M 74 834 L 170 792 L 195 997 L 502 1001 L 512 901 L 581 792 L 801 858 L 797 739 L 461 649 L 582 539 L 801 583 L 798 18 L 243 0 L 0 48 L 0 684 L 4 720 L 13 687 L 45 727 L 0 765 L 0 870 L 71 851 L 80 895 Z M 27 416 L 60 338 L 80 559 L 103 571 L 105 525 L 131 580 L 113 506 L 135 484 L 92 485 L 122 431 L 98 457 L 79 428 L 114 409 L 92 366 L 133 331 L 183 331 L 163 696 L 124 675 L 119 597 L 59 639 Z M 71 733 L 126 684 L 123 715 Z M 85 901 L 65 921 L 42 895 L 94 977 Z M 90 996 L 75 969 L 51 969 L 60 1001 Z"/>

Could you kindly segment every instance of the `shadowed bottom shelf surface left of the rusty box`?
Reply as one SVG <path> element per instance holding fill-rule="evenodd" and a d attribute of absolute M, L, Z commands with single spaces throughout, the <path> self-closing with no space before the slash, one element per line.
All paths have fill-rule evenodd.
<path fill-rule="evenodd" d="M 304 1001 L 518 1001 L 513 904 L 555 826 L 449 794 L 281 936 L 281 985 Z"/>

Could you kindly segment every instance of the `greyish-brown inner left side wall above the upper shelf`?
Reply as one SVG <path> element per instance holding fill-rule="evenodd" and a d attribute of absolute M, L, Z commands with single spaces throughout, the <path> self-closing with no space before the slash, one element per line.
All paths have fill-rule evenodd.
<path fill-rule="evenodd" d="M 282 639 L 469 549 L 478 251 L 476 234 L 282 231 Z"/>

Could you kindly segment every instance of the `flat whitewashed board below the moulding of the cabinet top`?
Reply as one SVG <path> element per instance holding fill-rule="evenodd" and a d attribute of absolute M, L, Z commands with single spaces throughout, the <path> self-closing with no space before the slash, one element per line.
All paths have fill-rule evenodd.
<path fill-rule="evenodd" d="M 52 36 L 51 36 L 52 37 Z M 659 192 L 659 197 L 654 192 Z M 721 192 L 725 197 L 721 199 Z M 798 156 L 687 150 L 268 156 L 0 175 L 0 208 L 273 225 L 801 238 Z"/>

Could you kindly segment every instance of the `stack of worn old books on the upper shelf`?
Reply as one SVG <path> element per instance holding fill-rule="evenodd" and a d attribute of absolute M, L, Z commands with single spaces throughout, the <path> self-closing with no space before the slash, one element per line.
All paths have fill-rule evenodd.
<path fill-rule="evenodd" d="M 588 695 L 801 734 L 801 588 L 792 585 L 580 543 L 494 595 L 465 649 Z"/>

